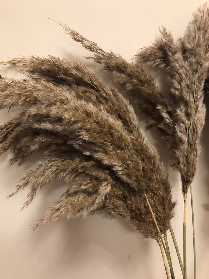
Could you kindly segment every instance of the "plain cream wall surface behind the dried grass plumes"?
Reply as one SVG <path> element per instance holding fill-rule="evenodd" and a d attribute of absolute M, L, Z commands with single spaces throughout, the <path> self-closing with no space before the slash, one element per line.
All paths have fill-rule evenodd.
<path fill-rule="evenodd" d="M 140 47 L 154 41 L 158 27 L 172 31 L 176 38 L 183 35 L 192 12 L 201 1 L 192 0 L 77 0 L 30 1 L 1 0 L 0 60 L 8 57 L 58 55 L 84 62 L 87 55 L 78 43 L 66 35 L 56 21 L 64 22 L 105 50 L 120 53 L 130 59 Z M 89 60 L 87 65 L 99 76 L 105 72 Z M 1 67 L 2 76 L 19 78 L 21 74 Z M 209 100 L 206 98 L 207 109 Z M 5 122 L 15 111 L 0 112 Z M 140 119 L 140 114 L 139 119 Z M 142 127 L 146 123 L 140 120 Z M 183 198 L 177 171 L 168 164 L 165 143 L 159 135 L 146 132 L 158 148 L 178 200 L 172 221 L 182 254 Z M 208 278 L 209 261 L 209 115 L 203 129 L 197 175 L 193 183 L 197 237 L 197 278 Z M 55 181 L 37 193 L 27 210 L 20 212 L 26 199 L 23 191 L 6 199 L 17 180 L 35 167 L 36 159 L 19 168 L 9 166 L 11 153 L 0 159 L 0 278 L 1 279 L 125 279 L 166 278 L 160 250 L 154 240 L 144 239 L 120 219 L 109 220 L 103 215 L 72 220 L 60 219 L 33 231 L 30 227 L 44 215 L 48 206 L 57 201 L 66 189 L 62 181 Z M 188 197 L 190 201 L 190 196 Z M 188 202 L 188 279 L 193 278 L 192 225 Z M 170 236 L 176 279 L 182 278 Z"/>

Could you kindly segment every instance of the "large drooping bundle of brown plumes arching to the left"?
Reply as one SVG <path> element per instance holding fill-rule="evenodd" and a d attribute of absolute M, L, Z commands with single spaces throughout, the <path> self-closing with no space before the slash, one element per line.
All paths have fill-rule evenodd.
<path fill-rule="evenodd" d="M 175 203 L 157 151 L 138 127 L 128 101 L 76 62 L 31 57 L 9 63 L 35 75 L 31 81 L 0 81 L 0 108 L 24 107 L 1 126 L 0 154 L 13 151 L 11 163 L 19 164 L 34 152 L 45 154 L 15 193 L 30 187 L 27 207 L 53 179 L 73 181 L 35 227 L 52 218 L 102 210 L 155 238 L 164 255 L 161 236 L 170 226 Z"/>

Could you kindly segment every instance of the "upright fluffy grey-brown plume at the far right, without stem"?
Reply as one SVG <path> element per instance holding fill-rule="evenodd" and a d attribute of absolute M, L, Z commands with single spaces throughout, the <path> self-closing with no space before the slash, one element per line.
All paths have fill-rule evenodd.
<path fill-rule="evenodd" d="M 164 68 L 167 73 L 170 91 L 166 107 L 159 105 L 162 114 L 165 112 L 165 119 L 173 120 L 175 133 L 168 141 L 174 141 L 171 144 L 172 161 L 181 173 L 184 193 L 197 168 L 199 140 L 205 119 L 203 90 L 207 89 L 209 67 L 208 6 L 200 6 L 193 16 L 183 38 L 174 41 L 171 33 L 163 27 L 161 37 L 138 54 L 141 62 Z"/>

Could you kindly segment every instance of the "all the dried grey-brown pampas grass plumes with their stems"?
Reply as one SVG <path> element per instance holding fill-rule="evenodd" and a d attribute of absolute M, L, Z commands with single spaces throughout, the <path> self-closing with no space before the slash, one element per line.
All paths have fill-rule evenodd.
<path fill-rule="evenodd" d="M 143 67 L 106 52 L 67 25 L 59 24 L 92 54 L 87 58 L 110 71 L 133 96 L 149 126 L 156 128 L 170 151 L 170 164 L 181 175 L 184 198 L 184 261 L 171 226 L 175 202 L 157 150 L 138 126 L 133 107 L 114 83 L 105 85 L 85 65 L 65 58 L 12 58 L 26 78 L 0 78 L 0 109 L 18 106 L 16 117 L 0 127 L 0 155 L 14 153 L 10 164 L 24 164 L 33 153 L 43 159 L 29 171 L 12 197 L 28 188 L 23 208 L 38 190 L 55 179 L 69 183 L 56 205 L 48 208 L 34 229 L 60 217 L 102 212 L 122 217 L 145 237 L 158 242 L 167 278 L 174 279 L 167 242 L 170 230 L 184 279 L 186 267 L 186 202 L 192 201 L 194 278 L 196 253 L 192 180 L 205 119 L 203 92 L 208 91 L 209 9 L 200 6 L 183 38 L 174 40 L 165 27 L 160 37 L 136 55 L 140 63 L 166 70 L 169 90 L 162 94 Z M 23 209 L 22 208 L 22 209 Z M 165 259 L 167 257 L 167 262 Z"/>

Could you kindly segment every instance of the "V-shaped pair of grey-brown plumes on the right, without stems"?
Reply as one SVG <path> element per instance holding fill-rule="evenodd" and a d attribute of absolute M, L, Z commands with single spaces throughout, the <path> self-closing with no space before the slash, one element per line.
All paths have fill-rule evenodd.
<path fill-rule="evenodd" d="M 111 71 L 116 80 L 125 85 L 126 92 L 134 96 L 150 121 L 149 127 L 157 128 L 165 139 L 171 165 L 180 171 L 183 192 L 187 192 L 197 168 L 205 118 L 203 85 L 208 71 L 208 8 L 202 6 L 194 14 L 184 40 L 174 41 L 163 27 L 161 37 L 138 55 L 141 62 L 166 69 L 170 84 L 167 96 L 163 96 L 142 67 L 128 63 L 118 54 L 105 52 L 68 26 L 61 25 L 73 40 L 93 52 L 89 58 Z"/>

